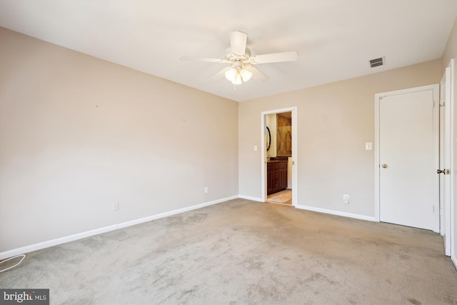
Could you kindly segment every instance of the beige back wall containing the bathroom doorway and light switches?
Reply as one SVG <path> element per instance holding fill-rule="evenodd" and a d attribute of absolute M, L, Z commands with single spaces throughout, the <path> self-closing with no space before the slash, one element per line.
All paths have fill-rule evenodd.
<path fill-rule="evenodd" d="M 298 109 L 298 204 L 374 216 L 374 94 L 439 83 L 441 60 L 241 102 L 239 191 L 261 198 L 261 111 Z M 374 147 L 373 147 L 374 148 Z M 343 194 L 351 204 L 343 204 Z"/>

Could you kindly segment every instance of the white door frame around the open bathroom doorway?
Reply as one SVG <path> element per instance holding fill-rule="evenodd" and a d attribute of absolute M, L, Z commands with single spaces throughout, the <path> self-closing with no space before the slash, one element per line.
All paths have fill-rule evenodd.
<path fill-rule="evenodd" d="M 262 181 L 262 196 L 263 202 L 266 201 L 266 148 L 265 148 L 265 131 L 266 131 L 266 115 L 267 114 L 281 114 L 282 112 L 292 112 L 292 205 L 298 204 L 298 141 L 297 141 L 297 107 L 289 107 L 283 109 L 275 109 L 261 112 L 261 181 Z"/>

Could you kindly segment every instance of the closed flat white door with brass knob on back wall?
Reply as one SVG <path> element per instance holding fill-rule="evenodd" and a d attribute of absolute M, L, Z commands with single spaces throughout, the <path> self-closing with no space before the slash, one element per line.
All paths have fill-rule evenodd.
<path fill-rule="evenodd" d="M 439 231 L 438 94 L 433 85 L 378 95 L 380 221 Z"/>

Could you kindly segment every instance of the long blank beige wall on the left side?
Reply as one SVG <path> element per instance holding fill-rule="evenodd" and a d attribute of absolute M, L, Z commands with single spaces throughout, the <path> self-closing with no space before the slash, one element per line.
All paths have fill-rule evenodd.
<path fill-rule="evenodd" d="M 0 252 L 238 194 L 236 102 L 6 29 L 0 66 Z"/>

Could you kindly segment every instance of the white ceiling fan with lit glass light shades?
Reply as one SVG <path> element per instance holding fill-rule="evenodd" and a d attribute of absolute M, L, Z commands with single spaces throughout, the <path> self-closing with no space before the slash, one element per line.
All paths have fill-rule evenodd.
<path fill-rule="evenodd" d="M 248 34 L 241 31 L 231 31 L 230 33 L 230 48 L 226 50 L 223 59 L 213 59 L 206 57 L 181 56 L 183 61 L 207 61 L 220 64 L 229 64 L 219 73 L 212 76 L 210 79 L 218 79 L 221 76 L 226 76 L 226 79 L 231 81 L 233 85 L 243 84 L 251 77 L 258 81 L 266 81 L 268 76 L 256 69 L 256 64 L 270 64 L 274 62 L 296 61 L 298 54 L 296 51 L 271 53 L 262 55 L 251 55 L 251 51 L 246 48 Z"/>

